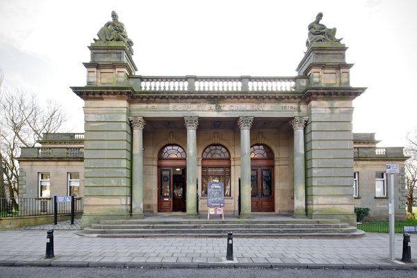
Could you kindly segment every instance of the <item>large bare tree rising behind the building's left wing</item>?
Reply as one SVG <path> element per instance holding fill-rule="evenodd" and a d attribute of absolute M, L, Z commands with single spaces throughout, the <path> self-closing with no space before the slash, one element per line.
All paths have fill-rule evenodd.
<path fill-rule="evenodd" d="M 18 194 L 20 147 L 34 147 L 42 133 L 54 133 L 67 121 L 63 108 L 54 101 L 40 104 L 28 90 L 2 88 L 0 91 L 0 152 L 4 186 L 13 198 Z"/>

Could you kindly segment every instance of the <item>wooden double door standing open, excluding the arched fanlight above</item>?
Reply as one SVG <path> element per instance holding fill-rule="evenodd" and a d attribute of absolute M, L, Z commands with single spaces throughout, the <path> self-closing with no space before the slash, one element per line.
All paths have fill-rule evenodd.
<path fill-rule="evenodd" d="M 186 167 L 158 168 L 158 212 L 185 212 L 186 190 Z"/>

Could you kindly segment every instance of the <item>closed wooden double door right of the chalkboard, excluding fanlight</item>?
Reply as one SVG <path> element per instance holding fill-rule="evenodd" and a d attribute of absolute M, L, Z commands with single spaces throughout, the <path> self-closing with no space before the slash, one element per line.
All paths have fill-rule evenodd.
<path fill-rule="evenodd" d="M 274 168 L 270 165 L 253 165 L 250 171 L 251 211 L 275 211 Z"/>

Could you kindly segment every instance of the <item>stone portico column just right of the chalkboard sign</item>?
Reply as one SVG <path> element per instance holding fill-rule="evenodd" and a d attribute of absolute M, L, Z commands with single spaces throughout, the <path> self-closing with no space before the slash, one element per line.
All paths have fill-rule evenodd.
<path fill-rule="evenodd" d="M 239 117 L 240 128 L 240 218 L 253 218 L 250 190 L 250 127 L 254 117 Z"/>

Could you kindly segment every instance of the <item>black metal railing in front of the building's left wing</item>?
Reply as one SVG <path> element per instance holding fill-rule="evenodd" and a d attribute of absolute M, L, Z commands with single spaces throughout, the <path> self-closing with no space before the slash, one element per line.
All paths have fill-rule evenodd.
<path fill-rule="evenodd" d="M 74 197 L 74 213 L 82 214 L 84 201 Z M 70 214 L 70 202 L 57 203 L 58 214 Z M 0 198 L 0 217 L 54 215 L 54 198 Z"/>

